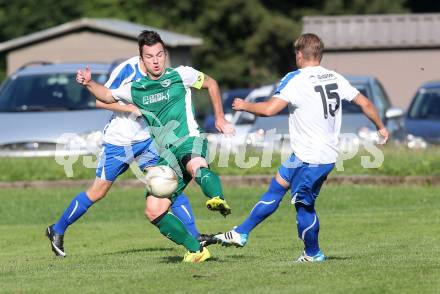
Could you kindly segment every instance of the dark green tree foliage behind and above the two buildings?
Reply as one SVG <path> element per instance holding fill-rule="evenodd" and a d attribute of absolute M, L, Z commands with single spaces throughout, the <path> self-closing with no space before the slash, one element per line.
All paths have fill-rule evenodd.
<path fill-rule="evenodd" d="M 222 87 L 249 87 L 277 81 L 294 69 L 292 42 L 305 15 L 439 11 L 434 2 L 0 0 L 0 42 L 81 17 L 119 18 L 202 37 L 204 44 L 194 50 L 194 65 Z M 0 66 L 2 77 L 4 64 Z"/>

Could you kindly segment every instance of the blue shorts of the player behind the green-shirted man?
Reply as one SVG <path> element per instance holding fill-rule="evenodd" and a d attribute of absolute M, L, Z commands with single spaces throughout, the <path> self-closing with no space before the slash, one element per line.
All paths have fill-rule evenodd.
<path fill-rule="evenodd" d="M 142 171 L 157 164 L 159 155 L 151 138 L 128 146 L 104 143 L 96 168 L 96 177 L 113 182 L 128 169 L 134 159 Z"/>

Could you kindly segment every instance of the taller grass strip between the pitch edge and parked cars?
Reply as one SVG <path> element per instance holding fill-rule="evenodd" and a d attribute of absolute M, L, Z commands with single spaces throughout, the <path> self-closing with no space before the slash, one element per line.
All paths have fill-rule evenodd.
<path fill-rule="evenodd" d="M 337 171 L 333 175 L 440 175 L 440 148 L 426 150 L 408 150 L 403 147 L 389 146 L 383 150 L 384 161 L 379 168 L 363 168 L 362 156 L 375 157 L 365 150 L 361 150 L 352 159 L 343 162 L 344 171 Z M 259 157 L 261 153 L 250 152 L 244 159 Z M 80 157 L 73 164 L 72 179 L 93 179 L 95 169 L 86 168 L 84 158 Z M 274 154 L 269 167 L 261 166 L 261 160 L 251 168 L 240 167 L 240 160 L 231 155 L 229 161 L 219 162 L 216 158 L 211 167 L 221 175 L 259 175 L 274 174 L 281 164 L 281 155 Z M 55 158 L 0 158 L 0 181 L 30 181 L 30 180 L 63 180 L 66 179 L 63 166 Z M 121 176 L 122 179 L 134 178 L 132 172 Z"/>

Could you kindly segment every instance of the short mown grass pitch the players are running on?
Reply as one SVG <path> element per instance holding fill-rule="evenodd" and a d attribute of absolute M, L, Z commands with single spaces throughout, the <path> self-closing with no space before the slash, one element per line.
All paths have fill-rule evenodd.
<path fill-rule="evenodd" d="M 203 232 L 242 221 L 261 187 L 226 189 L 226 220 L 188 191 Z M 211 246 L 213 258 L 182 264 L 185 250 L 143 216 L 143 191 L 115 187 L 69 228 L 68 257 L 43 236 L 78 189 L 0 191 L 1 293 L 439 293 L 440 198 L 433 187 L 326 187 L 318 200 L 322 264 L 302 250 L 288 197 L 246 247 Z"/>

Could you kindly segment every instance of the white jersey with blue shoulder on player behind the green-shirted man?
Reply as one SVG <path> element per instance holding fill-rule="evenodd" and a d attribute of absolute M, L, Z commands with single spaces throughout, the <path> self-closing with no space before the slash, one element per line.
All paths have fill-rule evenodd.
<path fill-rule="evenodd" d="M 117 89 L 143 75 L 145 73 L 140 68 L 139 57 L 132 57 L 112 71 L 105 86 L 109 89 Z M 125 105 L 122 101 L 118 103 Z M 113 112 L 103 132 L 104 142 L 118 146 L 127 146 L 150 138 L 143 117 L 132 118 L 130 113 L 126 112 Z"/>

